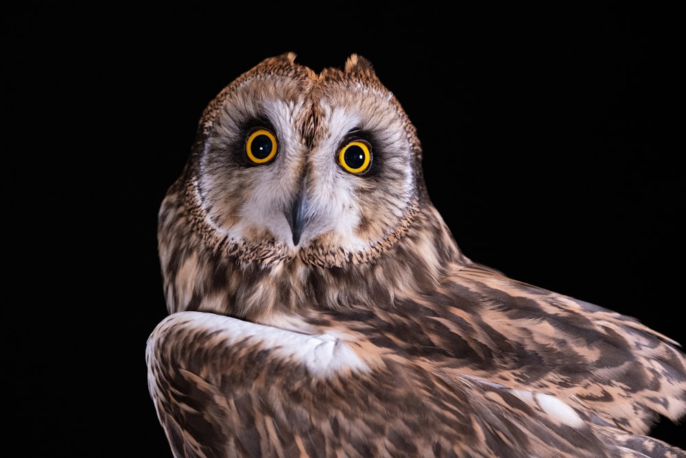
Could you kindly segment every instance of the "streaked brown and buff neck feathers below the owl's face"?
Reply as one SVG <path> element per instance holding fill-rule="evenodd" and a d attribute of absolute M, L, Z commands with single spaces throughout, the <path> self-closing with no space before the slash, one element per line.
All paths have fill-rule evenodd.
<path fill-rule="evenodd" d="M 398 299 L 434 290 L 447 271 L 469 262 L 438 211 L 430 203 L 418 208 L 423 209 L 414 211 L 404 229 L 374 255 L 348 255 L 348 262 L 328 265 L 314 262 L 311 254 L 246 262 L 243 244 L 213 240 L 197 222 L 190 237 L 165 235 L 175 233 L 168 225 L 187 227 L 189 217 L 169 208 L 161 212 L 159 232 L 167 308 L 257 323 L 278 314 L 359 308 L 370 302 L 391 308 Z"/>

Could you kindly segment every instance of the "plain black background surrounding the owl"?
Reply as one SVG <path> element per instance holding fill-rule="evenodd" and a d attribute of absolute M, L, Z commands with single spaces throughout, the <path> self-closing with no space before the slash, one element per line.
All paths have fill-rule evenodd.
<path fill-rule="evenodd" d="M 353 52 L 372 61 L 418 128 L 429 194 L 467 256 L 686 343 L 675 15 L 601 3 L 5 11 L 10 442 L 25 456 L 171 456 L 144 358 L 165 316 L 157 210 L 204 106 L 285 51 L 315 70 Z M 685 447 L 685 430 L 654 434 Z"/>

